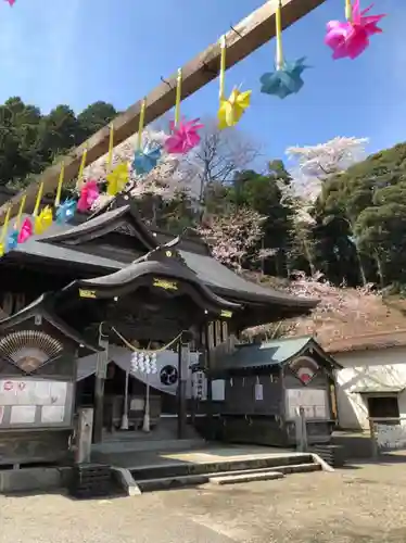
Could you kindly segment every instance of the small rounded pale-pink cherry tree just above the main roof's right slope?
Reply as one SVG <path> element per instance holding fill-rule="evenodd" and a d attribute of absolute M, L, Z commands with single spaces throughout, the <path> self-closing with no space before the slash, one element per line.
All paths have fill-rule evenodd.
<path fill-rule="evenodd" d="M 250 207 L 230 207 L 225 215 L 205 217 L 198 231 L 215 258 L 241 270 L 244 258 L 261 258 L 256 245 L 264 233 L 265 220 L 266 217 Z"/>

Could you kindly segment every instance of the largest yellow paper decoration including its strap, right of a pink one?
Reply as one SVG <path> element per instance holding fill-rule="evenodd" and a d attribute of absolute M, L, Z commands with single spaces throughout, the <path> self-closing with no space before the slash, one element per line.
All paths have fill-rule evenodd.
<path fill-rule="evenodd" d="M 219 91 L 219 109 L 217 112 L 218 128 L 234 126 L 242 117 L 244 111 L 250 106 L 252 90 L 241 92 L 234 88 L 227 99 L 225 94 L 226 81 L 226 36 L 221 37 L 220 41 L 220 91 Z"/>

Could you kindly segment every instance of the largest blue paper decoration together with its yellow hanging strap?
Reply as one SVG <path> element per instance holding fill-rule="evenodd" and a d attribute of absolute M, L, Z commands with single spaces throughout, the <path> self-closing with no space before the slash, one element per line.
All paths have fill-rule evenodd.
<path fill-rule="evenodd" d="M 261 92 L 265 94 L 275 94 L 283 99 L 301 90 L 304 85 L 302 74 L 308 66 L 304 64 L 306 60 L 305 56 L 302 56 L 294 62 L 288 62 L 283 58 L 281 0 L 278 1 L 275 20 L 277 41 L 275 61 L 276 70 L 275 72 L 266 73 L 261 77 Z"/>

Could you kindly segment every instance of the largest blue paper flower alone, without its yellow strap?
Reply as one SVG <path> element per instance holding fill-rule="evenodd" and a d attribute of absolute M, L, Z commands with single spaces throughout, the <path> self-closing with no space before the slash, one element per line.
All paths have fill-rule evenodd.
<path fill-rule="evenodd" d="M 261 92 L 275 94 L 279 98 L 287 98 L 299 92 L 304 85 L 302 73 L 308 67 L 304 64 L 305 60 L 306 58 L 303 56 L 294 62 L 283 62 L 280 68 L 264 74 L 259 79 Z"/>

